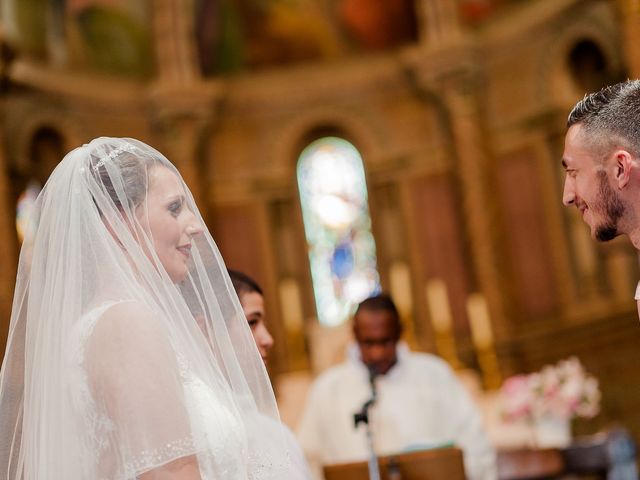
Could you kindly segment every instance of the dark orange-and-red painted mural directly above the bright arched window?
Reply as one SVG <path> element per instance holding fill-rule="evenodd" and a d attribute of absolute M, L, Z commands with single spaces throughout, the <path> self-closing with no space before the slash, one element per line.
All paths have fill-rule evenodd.
<path fill-rule="evenodd" d="M 205 74 L 394 48 L 417 40 L 414 0 L 198 0 Z"/>

